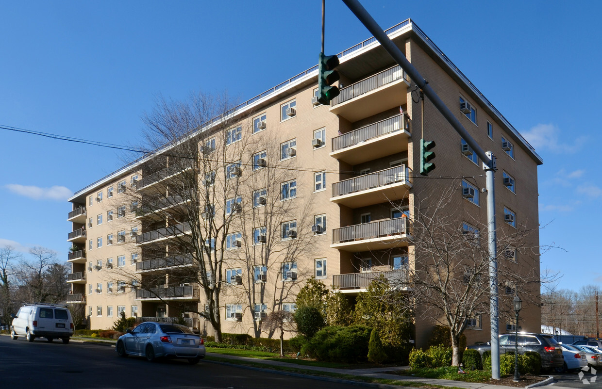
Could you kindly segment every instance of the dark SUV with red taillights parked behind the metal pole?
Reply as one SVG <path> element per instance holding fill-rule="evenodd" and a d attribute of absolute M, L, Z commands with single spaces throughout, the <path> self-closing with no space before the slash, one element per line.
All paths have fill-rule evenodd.
<path fill-rule="evenodd" d="M 516 348 L 516 335 L 500 335 L 500 354 L 514 352 Z M 479 351 L 481 357 L 483 352 L 491 351 L 491 345 L 488 343 L 475 344 L 468 346 L 467 349 Z M 552 369 L 553 367 L 562 367 L 564 357 L 562 356 L 562 347 L 556 342 L 553 335 L 532 334 L 529 332 L 520 332 L 518 334 L 518 354 L 524 354 L 527 351 L 535 351 L 541 355 L 541 368 Z"/>

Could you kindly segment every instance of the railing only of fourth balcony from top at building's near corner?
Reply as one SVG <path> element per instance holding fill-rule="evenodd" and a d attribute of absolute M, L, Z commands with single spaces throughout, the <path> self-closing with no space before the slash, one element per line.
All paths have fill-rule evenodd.
<path fill-rule="evenodd" d="M 338 244 L 349 242 L 351 240 L 406 234 L 408 224 L 408 218 L 397 218 L 336 228 L 335 230 L 332 230 L 332 243 Z"/>

